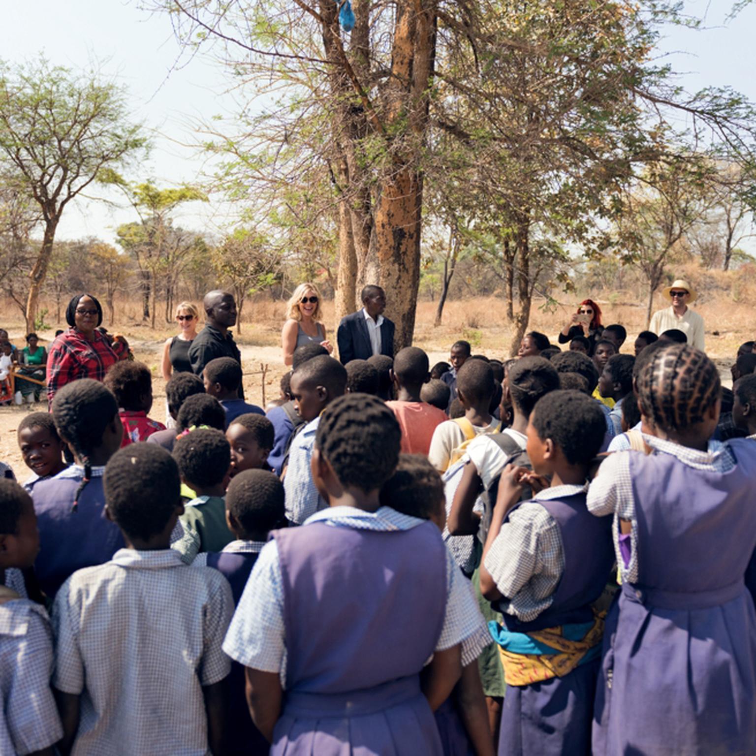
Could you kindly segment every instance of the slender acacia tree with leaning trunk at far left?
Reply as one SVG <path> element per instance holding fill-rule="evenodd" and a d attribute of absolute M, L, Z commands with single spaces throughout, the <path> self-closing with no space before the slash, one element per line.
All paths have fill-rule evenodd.
<path fill-rule="evenodd" d="M 32 327 L 64 209 L 107 166 L 125 166 L 147 140 L 129 120 L 125 90 L 95 73 L 0 62 L 0 168 L 39 206 L 42 245 L 29 272 Z"/>

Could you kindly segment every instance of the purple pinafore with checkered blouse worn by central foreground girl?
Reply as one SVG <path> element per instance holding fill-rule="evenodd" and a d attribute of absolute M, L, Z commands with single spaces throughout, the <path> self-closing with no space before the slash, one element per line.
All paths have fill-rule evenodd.
<path fill-rule="evenodd" d="M 285 677 L 271 754 L 441 756 L 419 674 L 481 622 L 438 528 L 336 507 L 273 536 L 224 643 Z"/>

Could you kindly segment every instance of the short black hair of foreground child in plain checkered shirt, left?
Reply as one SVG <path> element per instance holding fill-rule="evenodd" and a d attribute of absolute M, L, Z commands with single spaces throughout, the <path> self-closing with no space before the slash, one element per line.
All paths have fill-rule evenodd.
<path fill-rule="evenodd" d="M 119 449 L 105 466 L 105 503 L 121 530 L 146 540 L 163 531 L 181 502 L 178 467 L 156 444 Z"/>

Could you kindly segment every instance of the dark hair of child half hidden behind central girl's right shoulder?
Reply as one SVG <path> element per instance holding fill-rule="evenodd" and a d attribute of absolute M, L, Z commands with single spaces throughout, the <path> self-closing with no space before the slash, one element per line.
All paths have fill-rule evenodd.
<path fill-rule="evenodd" d="M 431 519 L 445 507 L 444 482 L 422 454 L 400 454 L 394 474 L 380 491 L 383 507 L 411 517 Z"/>

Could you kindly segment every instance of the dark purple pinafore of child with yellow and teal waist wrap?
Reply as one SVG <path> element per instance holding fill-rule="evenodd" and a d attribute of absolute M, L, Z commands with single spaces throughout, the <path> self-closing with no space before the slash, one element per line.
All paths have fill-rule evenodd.
<path fill-rule="evenodd" d="M 536 500 L 559 528 L 564 558 L 562 576 L 550 606 L 531 621 L 513 616 L 507 600 L 494 609 L 502 613 L 507 631 L 515 633 L 527 634 L 558 625 L 590 626 L 593 622 L 590 605 L 601 595 L 614 562 L 611 521 L 588 512 L 584 489 L 568 496 Z M 519 507 L 522 504 L 514 507 L 507 519 Z M 581 663 L 565 677 L 507 687 L 501 711 L 500 756 L 590 754 L 590 723 L 600 664 L 597 651 L 588 652 L 586 658 L 590 661 Z"/>

